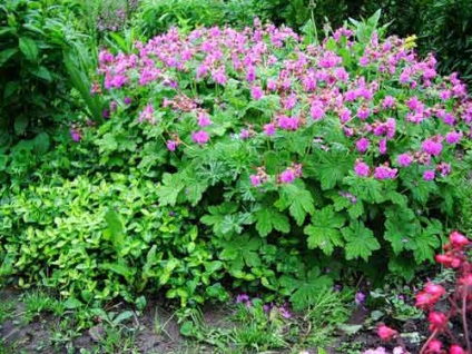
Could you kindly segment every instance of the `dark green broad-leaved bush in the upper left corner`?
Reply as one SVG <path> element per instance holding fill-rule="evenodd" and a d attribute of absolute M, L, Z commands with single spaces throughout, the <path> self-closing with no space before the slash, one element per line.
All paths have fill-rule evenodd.
<path fill-rule="evenodd" d="M 0 151 L 53 126 L 67 101 L 62 51 L 71 33 L 61 10 L 48 1 L 0 4 Z"/>

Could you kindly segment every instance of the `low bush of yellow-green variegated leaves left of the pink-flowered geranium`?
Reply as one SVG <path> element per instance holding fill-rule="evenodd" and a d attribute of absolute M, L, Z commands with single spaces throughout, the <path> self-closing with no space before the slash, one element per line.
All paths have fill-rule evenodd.
<path fill-rule="evenodd" d="M 150 180 L 52 178 L 0 199 L 0 275 L 86 303 L 165 289 L 183 306 L 224 301 L 223 263 L 185 207 L 161 207 Z"/>

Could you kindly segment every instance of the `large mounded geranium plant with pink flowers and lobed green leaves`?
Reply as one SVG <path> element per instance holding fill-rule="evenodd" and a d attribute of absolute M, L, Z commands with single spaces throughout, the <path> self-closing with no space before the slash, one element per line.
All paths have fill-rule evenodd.
<path fill-rule="evenodd" d="M 377 21 L 321 45 L 256 20 L 104 50 L 100 164 L 153 178 L 163 206 L 191 205 L 234 286 L 304 304 L 326 266 L 411 278 L 465 199 L 472 102 Z"/>

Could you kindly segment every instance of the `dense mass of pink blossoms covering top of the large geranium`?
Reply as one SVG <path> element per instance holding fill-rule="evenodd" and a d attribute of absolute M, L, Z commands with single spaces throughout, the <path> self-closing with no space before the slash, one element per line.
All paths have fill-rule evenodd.
<path fill-rule="evenodd" d="M 328 125 L 341 129 L 352 150 L 363 158 L 353 166 L 357 176 L 393 179 L 412 165 L 422 167 L 425 180 L 448 176 L 451 161 L 444 160 L 445 153 L 472 132 L 472 101 L 458 76 L 439 77 L 433 56 L 421 60 L 404 40 L 390 37 L 381 41 L 376 33 L 358 58 L 358 69 L 350 72 L 345 59 L 332 43 L 327 46 L 330 40 L 348 52 L 355 41 L 352 31 L 343 28 L 321 45 L 304 46 L 293 30 L 263 27 L 257 19 L 253 29 L 243 31 L 214 27 L 183 35 L 170 29 L 147 43 L 136 42 L 132 53 L 102 50 L 98 72 L 105 90 L 124 91 L 125 109 L 136 109 L 131 101 L 142 102 L 136 119 L 161 125 L 171 151 L 184 141 L 205 147 L 214 137 L 222 137 L 212 117 L 217 110 L 233 112 L 233 102 L 216 94 L 209 107 L 195 90 L 214 85 L 216 92 L 237 88 L 248 105 L 271 107 L 250 129 L 236 130 L 248 144 L 259 137 L 278 139 L 313 125 Z M 283 51 L 287 56 L 276 55 Z M 372 69 L 375 75 L 367 75 Z M 404 94 L 385 95 L 384 82 Z M 165 91 L 167 97 L 150 95 L 144 102 L 141 95 L 148 94 L 142 92 L 154 90 Z M 102 92 L 97 82 L 92 92 Z M 164 112 L 161 119 L 156 111 Z M 183 131 L 180 125 L 188 117 L 194 120 L 186 127 L 193 130 Z M 242 119 L 240 125 L 247 122 Z M 441 128 L 432 132 L 429 126 Z M 409 136 L 409 129 L 422 129 L 423 138 Z M 171 138 L 177 131 L 178 139 Z M 399 149 L 399 140 L 409 142 L 407 150 Z M 365 163 L 367 156 L 372 166 Z M 394 164 L 397 168 L 391 167 Z M 297 174 L 287 169 L 278 180 L 292 183 L 295 177 Z M 252 177 L 253 185 L 255 181 Z"/>

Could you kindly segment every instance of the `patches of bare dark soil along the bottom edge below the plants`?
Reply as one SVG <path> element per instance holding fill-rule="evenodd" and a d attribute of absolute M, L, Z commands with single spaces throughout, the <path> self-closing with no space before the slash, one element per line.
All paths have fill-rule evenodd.
<path fill-rule="evenodd" d="M 69 354 L 69 353 L 82 353 L 81 350 L 88 350 L 87 353 L 114 353 L 100 350 L 99 341 L 107 334 L 105 333 L 104 327 L 100 324 L 97 324 L 95 327 L 82 331 L 80 334 L 73 336 L 65 336 L 62 340 L 57 337 L 58 333 L 67 334 L 68 328 L 60 328 L 60 321 L 63 318 L 57 318 L 52 315 L 41 315 L 35 317 L 31 322 L 21 321 L 21 315 L 24 314 L 24 304 L 21 302 L 20 293 L 16 291 L 1 291 L 0 289 L 0 304 L 3 302 L 13 301 L 16 304 L 14 315 L 12 318 L 8 318 L 2 324 L 0 324 L 0 344 L 7 348 L 10 348 L 12 352 L 2 352 L 0 345 L 0 354 L 11 354 L 11 353 L 45 353 L 45 354 Z M 222 327 L 227 326 L 228 323 L 225 323 L 225 313 L 222 308 L 205 308 L 204 309 L 204 321 L 208 326 L 212 327 Z M 368 318 L 370 313 L 363 308 L 358 307 L 352 315 L 348 325 L 363 325 L 363 328 L 356 332 L 353 335 L 338 333 L 338 338 L 336 343 L 326 348 L 327 354 L 337 354 L 337 353 L 348 353 L 357 354 L 362 353 L 367 348 L 376 348 L 378 346 L 384 346 L 387 350 L 392 350 L 392 345 L 382 343 L 378 336 L 374 333 L 373 328 L 365 328 L 366 318 Z M 156 318 L 158 318 L 159 324 L 157 325 L 160 331 L 156 333 Z M 132 323 L 131 323 L 132 322 Z M 159 306 L 158 301 L 150 301 L 147 304 L 146 309 L 142 315 L 131 318 L 129 327 L 134 328 L 134 341 L 132 346 L 127 348 L 115 348 L 115 353 L 142 353 L 142 354 L 157 354 L 157 353 L 168 353 L 168 354 L 193 354 L 193 353 L 222 353 L 216 347 L 205 346 L 201 344 L 196 344 L 196 342 L 190 342 L 187 338 L 183 337 L 179 332 L 179 325 L 175 316 L 171 315 L 169 311 Z M 425 327 L 425 322 L 405 322 L 402 328 L 399 328 L 401 333 L 411 334 L 410 338 L 405 338 L 406 347 L 410 353 L 416 354 L 420 352 L 420 342 L 415 341 L 417 336 L 421 336 L 424 341 L 425 336 L 429 334 L 427 328 Z M 229 324 L 230 325 L 230 324 Z M 70 328 L 69 328 L 70 330 Z M 56 337 L 55 337 L 56 335 Z M 63 342 L 61 342 L 63 341 Z M 343 350 L 341 350 L 343 347 Z M 132 350 L 131 350 L 132 348 Z M 101 352 L 104 351 L 104 352 Z M 240 353 L 238 351 L 228 348 L 225 353 Z M 254 352 L 257 353 L 257 352 Z M 285 351 L 271 351 L 268 353 L 294 353 L 289 350 Z M 295 352 L 298 353 L 298 352 Z M 318 353 L 315 348 L 306 348 L 305 352 L 316 354 Z"/>

